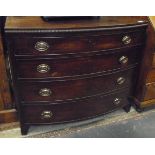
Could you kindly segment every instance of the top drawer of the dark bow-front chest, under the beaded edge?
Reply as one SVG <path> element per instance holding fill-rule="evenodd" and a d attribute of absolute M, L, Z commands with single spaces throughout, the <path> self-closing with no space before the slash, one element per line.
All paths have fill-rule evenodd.
<path fill-rule="evenodd" d="M 14 38 L 16 55 L 60 55 L 107 50 L 142 44 L 144 31 L 87 37 Z"/>

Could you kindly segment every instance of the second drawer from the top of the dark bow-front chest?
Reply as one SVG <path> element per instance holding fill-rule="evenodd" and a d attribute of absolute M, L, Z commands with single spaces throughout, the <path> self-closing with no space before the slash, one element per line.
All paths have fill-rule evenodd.
<path fill-rule="evenodd" d="M 66 59 L 19 59 L 17 76 L 26 78 L 66 78 L 83 76 L 116 69 L 125 69 L 141 58 L 141 47 L 116 50 L 102 55 Z"/>

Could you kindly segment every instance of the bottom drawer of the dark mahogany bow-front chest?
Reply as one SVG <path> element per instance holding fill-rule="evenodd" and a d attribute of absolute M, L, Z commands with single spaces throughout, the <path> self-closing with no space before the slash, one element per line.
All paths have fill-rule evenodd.
<path fill-rule="evenodd" d="M 22 115 L 24 122 L 28 124 L 49 124 L 86 119 L 127 105 L 128 95 L 129 91 L 124 90 L 78 102 L 55 105 L 25 105 L 22 106 Z"/>

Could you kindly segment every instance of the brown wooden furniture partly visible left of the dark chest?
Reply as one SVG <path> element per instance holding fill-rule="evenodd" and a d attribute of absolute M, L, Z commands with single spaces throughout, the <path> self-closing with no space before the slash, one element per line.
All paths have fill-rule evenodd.
<path fill-rule="evenodd" d="M 10 81 L 7 74 L 6 55 L 4 45 L 5 17 L 0 16 L 0 123 L 17 121 L 17 112 L 10 91 Z"/>

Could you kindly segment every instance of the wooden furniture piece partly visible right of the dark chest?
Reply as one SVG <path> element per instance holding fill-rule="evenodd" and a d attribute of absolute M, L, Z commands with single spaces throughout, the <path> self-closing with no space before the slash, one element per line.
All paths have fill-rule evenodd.
<path fill-rule="evenodd" d="M 138 111 L 155 103 L 155 17 L 148 17 L 148 19 L 149 26 L 147 29 L 146 45 L 135 93 L 135 104 Z"/>

